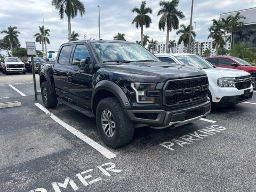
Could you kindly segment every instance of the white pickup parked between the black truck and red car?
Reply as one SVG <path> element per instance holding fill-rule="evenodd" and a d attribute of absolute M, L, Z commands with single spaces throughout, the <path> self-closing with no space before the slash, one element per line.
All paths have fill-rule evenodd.
<path fill-rule="evenodd" d="M 160 53 L 155 55 L 164 62 L 193 66 L 204 70 L 209 79 L 209 97 L 213 106 L 225 107 L 252 98 L 252 76 L 248 72 L 216 68 L 200 56 L 194 54 Z M 198 96 L 200 96 L 199 93 Z"/>

